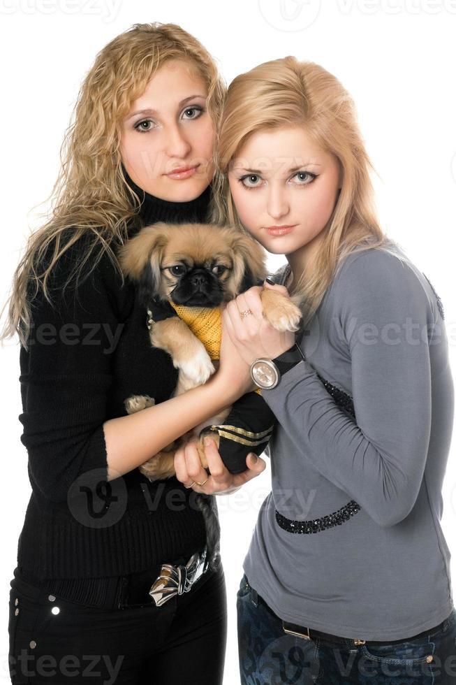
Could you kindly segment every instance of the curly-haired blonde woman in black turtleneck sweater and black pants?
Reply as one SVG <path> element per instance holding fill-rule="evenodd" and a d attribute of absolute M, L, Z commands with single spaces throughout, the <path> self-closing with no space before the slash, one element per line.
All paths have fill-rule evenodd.
<path fill-rule="evenodd" d="M 15 271 L 3 338 L 21 343 L 32 488 L 10 582 L 17 684 L 221 683 L 225 584 L 205 558 L 203 514 L 177 479 L 151 483 L 136 467 L 252 383 L 237 364 L 172 397 L 177 369 L 150 345 L 117 248 L 144 224 L 211 213 L 225 89 L 176 24 L 135 24 L 108 43 L 82 83 L 52 216 Z M 132 394 L 154 405 L 127 415 Z M 233 477 L 212 463 L 206 492 L 264 466 Z"/>

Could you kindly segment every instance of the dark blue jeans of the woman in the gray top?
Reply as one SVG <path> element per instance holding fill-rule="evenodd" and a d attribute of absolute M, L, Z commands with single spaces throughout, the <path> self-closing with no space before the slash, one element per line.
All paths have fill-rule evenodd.
<path fill-rule="evenodd" d="M 284 632 L 244 574 L 237 638 L 242 685 L 456 685 L 454 608 L 441 628 L 404 642 L 306 640 Z"/>

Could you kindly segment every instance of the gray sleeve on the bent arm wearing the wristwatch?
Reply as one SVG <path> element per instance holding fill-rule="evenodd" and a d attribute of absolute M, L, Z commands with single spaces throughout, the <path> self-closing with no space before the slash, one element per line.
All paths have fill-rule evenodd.
<path fill-rule="evenodd" d="M 431 431 L 430 358 L 447 374 L 445 329 L 434 322 L 436 308 L 413 269 L 380 250 L 358 255 L 332 296 L 328 335 L 334 354 L 351 360 L 356 420 L 307 361 L 263 397 L 303 465 L 310 461 L 378 525 L 393 526 L 420 490 Z"/>

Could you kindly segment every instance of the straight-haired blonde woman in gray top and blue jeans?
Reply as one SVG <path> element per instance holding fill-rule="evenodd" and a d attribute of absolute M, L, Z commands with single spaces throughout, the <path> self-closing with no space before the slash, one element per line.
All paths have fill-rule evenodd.
<path fill-rule="evenodd" d="M 303 313 L 281 354 L 258 287 L 223 312 L 278 419 L 237 594 L 242 684 L 453 683 L 443 307 L 378 224 L 353 100 L 313 62 L 260 64 L 228 87 L 217 155 L 217 219 L 284 254 L 265 287 Z"/>

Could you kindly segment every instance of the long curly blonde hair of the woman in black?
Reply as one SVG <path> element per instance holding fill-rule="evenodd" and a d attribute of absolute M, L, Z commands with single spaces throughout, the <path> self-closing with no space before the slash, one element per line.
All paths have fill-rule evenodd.
<path fill-rule="evenodd" d="M 64 289 L 85 264 L 95 268 L 104 252 L 122 275 L 112 246 L 126 240 L 140 199 L 127 184 L 122 169 L 121 122 L 168 59 L 183 59 L 203 79 L 208 92 L 207 112 L 216 128 L 226 84 L 214 58 L 191 34 L 177 24 L 133 24 L 105 45 L 82 82 L 61 146 L 61 170 L 49 198 L 51 216 L 29 236 L 13 275 L 11 294 L 2 309 L 8 305 L 2 344 L 4 338 L 17 333 L 27 349 L 31 302 L 43 288 L 52 304 L 47 281 L 57 261 L 81 236 L 91 234 L 93 240 Z M 94 252 L 98 252 L 95 258 Z"/>

